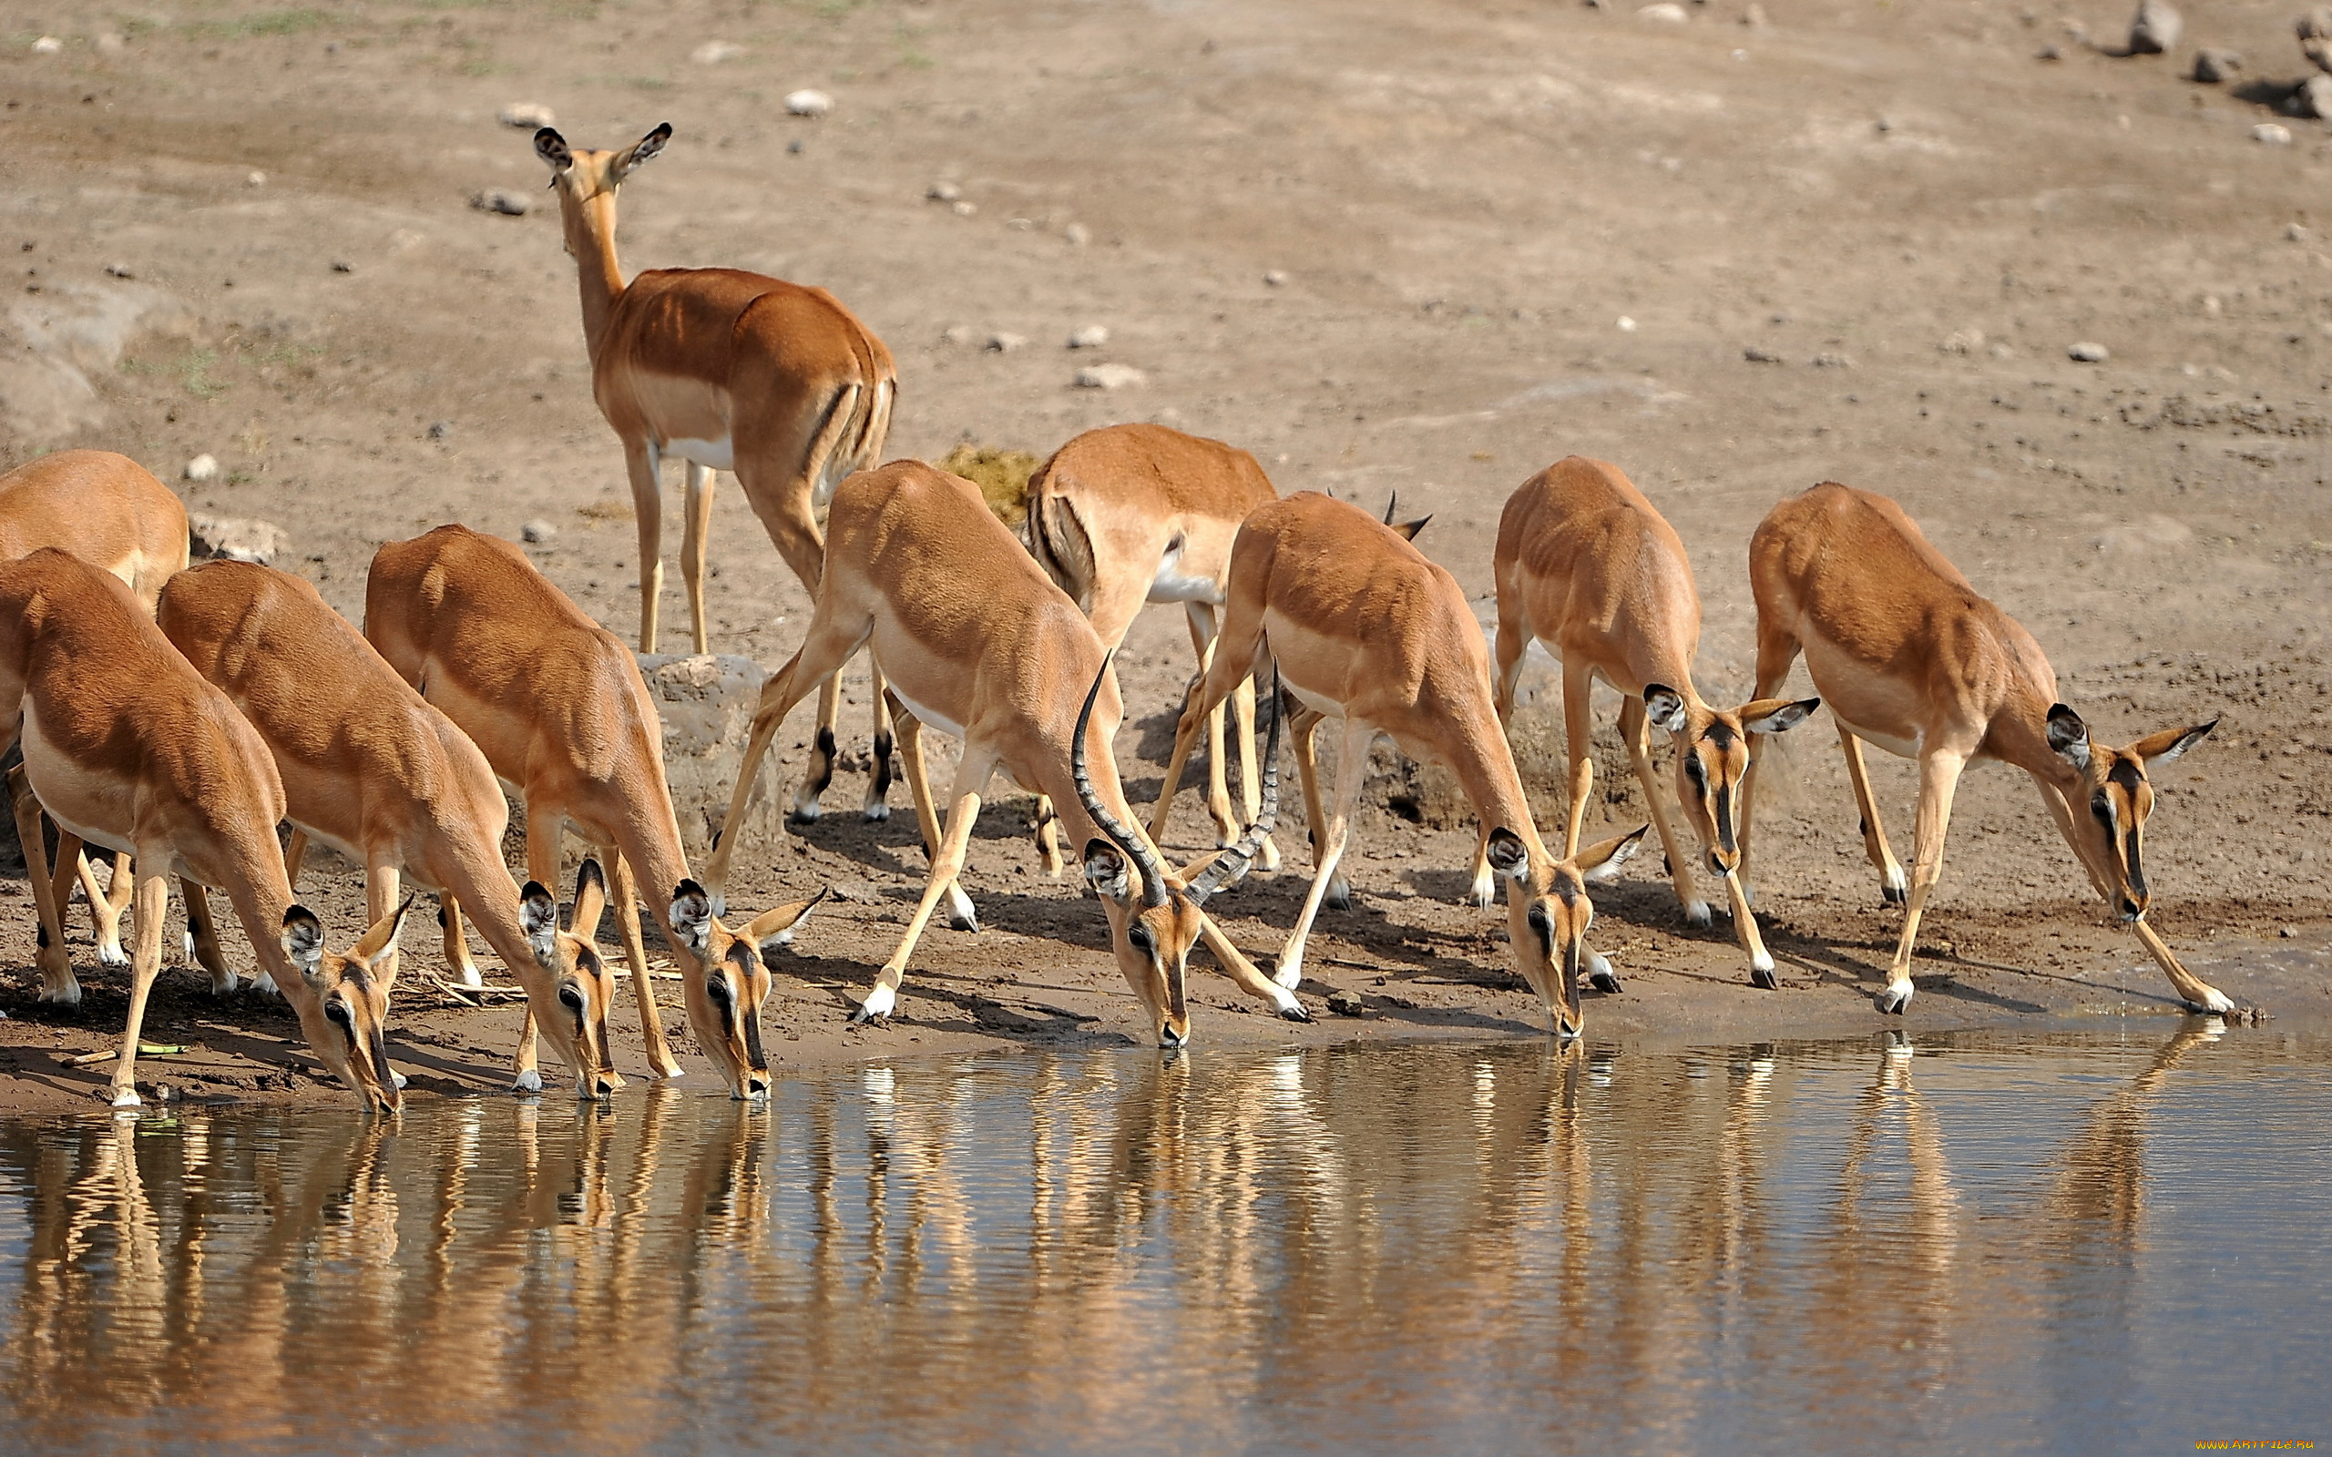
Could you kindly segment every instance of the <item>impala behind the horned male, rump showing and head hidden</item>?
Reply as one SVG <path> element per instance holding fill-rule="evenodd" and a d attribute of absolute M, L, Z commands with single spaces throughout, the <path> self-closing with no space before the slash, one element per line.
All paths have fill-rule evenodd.
<path fill-rule="evenodd" d="M 1229 601 L 1231 536 L 1264 501 L 1278 501 L 1271 478 L 1245 450 L 1185 436 L 1164 424 L 1110 424 L 1061 445 L 1028 478 L 1028 552 L 1077 608 L 1110 653 L 1126 641 L 1150 601 L 1180 601 L 1199 671 L 1215 653 L 1215 608 Z M 1238 683 L 1238 779 L 1245 823 L 1255 823 L 1255 678 Z M 1222 704 L 1206 716 L 1206 809 L 1215 844 L 1238 839 L 1224 774 Z M 1280 863 L 1264 839 L 1262 867 Z"/>

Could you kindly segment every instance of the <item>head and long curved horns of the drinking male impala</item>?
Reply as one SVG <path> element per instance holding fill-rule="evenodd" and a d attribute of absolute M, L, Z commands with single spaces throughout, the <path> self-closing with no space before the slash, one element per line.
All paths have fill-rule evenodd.
<path fill-rule="evenodd" d="M 1189 967 L 1189 949 L 1206 928 L 1206 900 L 1248 874 L 1264 837 L 1271 835 L 1280 811 L 1280 713 L 1271 713 L 1271 734 L 1264 746 L 1264 802 L 1248 832 L 1187 881 L 1173 874 L 1157 849 L 1140 830 L 1129 828 L 1101 795 L 1094 793 L 1094 776 L 1087 772 L 1084 730 L 1094 718 L 1094 699 L 1101 697 L 1101 681 L 1110 676 L 1108 657 L 1101 674 L 1084 695 L 1077 711 L 1077 734 L 1070 739 L 1068 772 L 1077 783 L 1077 802 L 1091 816 L 1101 837 L 1084 844 L 1084 881 L 1108 907 L 1110 949 L 1117 953 L 1117 970 L 1133 986 L 1133 995 L 1150 1009 L 1150 1030 L 1159 1047 L 1182 1047 L 1189 1042 L 1189 1005 L 1182 998 L 1182 977 Z M 1278 683 L 1271 702 L 1278 704 Z"/>

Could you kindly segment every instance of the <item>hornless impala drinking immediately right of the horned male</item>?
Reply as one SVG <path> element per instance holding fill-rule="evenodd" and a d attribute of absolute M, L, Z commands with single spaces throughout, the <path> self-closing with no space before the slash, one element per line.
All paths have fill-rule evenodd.
<path fill-rule="evenodd" d="M 1264 655 L 1311 716 L 1294 723 L 1308 807 L 1318 804 L 1318 772 L 1306 753 L 1311 730 L 1322 718 L 1343 720 L 1336 800 L 1325 818 L 1313 811 L 1313 881 L 1280 951 L 1276 984 L 1292 988 L 1304 979 L 1304 942 L 1343 856 L 1369 744 L 1388 734 L 1402 753 L 1458 774 L 1483 823 L 1483 853 L 1506 881 L 1516 965 L 1555 1033 L 1579 1035 L 1581 958 L 1597 977 L 1609 977 L 1609 963 L 1586 951 L 1595 916 L 1588 881 L 1611 879 L 1649 825 L 1560 860 L 1546 851 L 1490 704 L 1490 653 L 1464 590 L 1406 536 L 1357 506 L 1297 492 L 1255 508 L 1238 527 L 1215 662 L 1182 702 L 1152 837 L 1166 823 L 1206 713 Z"/>

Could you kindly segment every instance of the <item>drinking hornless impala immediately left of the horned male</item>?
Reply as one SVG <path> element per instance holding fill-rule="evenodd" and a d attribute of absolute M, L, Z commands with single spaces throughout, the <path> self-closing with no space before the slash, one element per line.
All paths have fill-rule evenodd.
<path fill-rule="evenodd" d="M 564 821 L 574 821 L 597 846 L 655 1075 L 679 1077 L 681 1065 L 655 1009 L 634 877 L 669 886 L 651 900 L 651 911 L 681 960 L 693 963 L 683 965 L 681 986 L 697 1042 L 735 1098 L 767 1093 L 760 1002 L 770 995 L 770 972 L 763 956 L 793 937 L 816 898 L 767 911 L 737 930 L 714 914 L 704 888 L 688 877 L 681 828 L 672 818 L 655 699 L 616 634 L 592 622 L 508 541 L 469 527 L 438 527 L 373 552 L 364 636 L 396 676 L 471 737 L 494 776 L 520 795 L 527 809 L 527 874 L 536 888 L 557 884 Z M 455 893 L 445 905 L 448 932 L 459 918 L 459 900 Z M 532 895 L 527 900 L 539 905 Z M 590 923 L 578 921 L 578 935 L 590 932 Z M 562 995 L 567 1021 L 583 1014 L 604 1019 L 613 995 L 606 967 L 597 956 L 581 958 L 578 967 L 576 974 L 590 972 L 599 986 L 583 1009 Z M 562 967 L 560 977 L 567 974 Z M 534 1028 L 529 998 L 518 1042 L 518 1086 L 529 1091 L 541 1089 Z M 609 1091 L 623 1086 L 620 1077 L 595 1072 Z"/>

